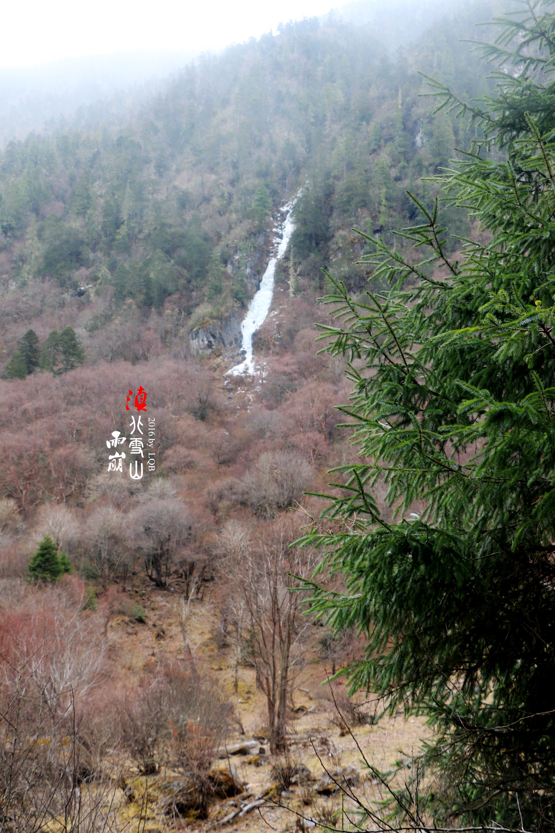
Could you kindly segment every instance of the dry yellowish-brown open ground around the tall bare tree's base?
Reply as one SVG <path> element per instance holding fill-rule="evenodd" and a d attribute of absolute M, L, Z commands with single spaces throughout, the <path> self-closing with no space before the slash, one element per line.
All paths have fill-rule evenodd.
<path fill-rule="evenodd" d="M 129 678 L 138 677 L 149 664 L 156 666 L 162 659 L 186 661 L 186 651 L 181 635 L 177 611 L 178 588 L 174 593 L 152 591 L 145 586 L 142 578 L 135 578 L 135 586 L 126 591 L 130 601 L 141 604 L 145 611 L 146 623 L 140 624 L 126 616 L 115 616 L 109 622 L 107 633 L 110 641 L 111 661 L 121 667 Z M 215 594 L 216 595 L 216 594 Z M 211 806 L 207 821 L 194 819 L 171 820 L 164 816 L 158 805 L 160 787 L 177 773 L 162 770 L 156 776 L 139 776 L 132 766 L 126 768 L 121 785 L 126 793 L 144 796 L 141 803 L 131 801 L 123 811 L 135 829 L 140 820 L 141 833 L 155 831 L 197 830 L 210 831 L 216 828 L 230 831 L 292 831 L 305 829 L 303 819 L 315 817 L 332 827 L 341 828 L 339 819 L 340 793 L 333 796 L 320 796 L 315 787 L 325 770 L 337 767 L 354 766 L 359 771 L 359 783 L 354 792 L 361 801 L 375 804 L 381 797 L 378 781 L 364 765 L 363 756 L 371 766 L 385 771 L 397 761 L 404 761 L 410 766 L 413 753 L 419 750 L 424 737 L 429 736 L 429 728 L 424 721 L 417 718 L 404 720 L 383 717 L 376 725 L 353 726 L 353 736 L 345 733 L 339 726 L 338 713 L 330 695 L 330 685 L 326 682 L 326 671 L 316 651 L 307 651 L 307 662 L 293 695 L 295 710 L 291 712 L 287 760 L 296 766 L 304 765 L 310 771 L 310 781 L 290 787 L 281 799 L 275 790 L 275 776 L 272 768 L 284 763 L 285 757 L 270 755 L 267 743 L 265 697 L 255 686 L 255 671 L 241 667 L 239 690 L 234 693 L 235 670 L 226 651 L 218 650 L 216 628 L 218 622 L 218 599 L 193 601 L 194 613 L 188 628 L 188 639 L 196 666 L 209 674 L 229 696 L 235 708 L 237 731 L 230 735 L 228 748 L 243 741 L 259 741 L 258 748 L 245 754 L 223 756 L 215 768 L 231 771 L 244 784 L 243 791 L 235 798 L 216 801 Z M 342 692 L 343 690 L 343 692 Z M 344 696 L 342 682 L 334 682 L 334 696 L 341 701 Z M 374 711 L 371 704 L 366 706 L 368 713 Z M 243 732 L 240 731 L 242 728 Z M 355 740 L 354 740 L 355 739 Z M 359 748 L 357 748 L 357 745 Z M 264 750 L 262 754 L 260 750 Z M 222 820 L 235 809 L 266 796 L 265 804 L 255 807 L 244 816 L 224 823 Z M 121 796 L 123 798 L 123 796 Z M 279 802 L 279 803 L 278 803 Z M 280 806 L 281 805 L 281 806 Z M 290 809 L 287 809 L 289 807 Z M 344 826 L 348 818 L 354 818 L 353 801 L 344 798 Z"/>

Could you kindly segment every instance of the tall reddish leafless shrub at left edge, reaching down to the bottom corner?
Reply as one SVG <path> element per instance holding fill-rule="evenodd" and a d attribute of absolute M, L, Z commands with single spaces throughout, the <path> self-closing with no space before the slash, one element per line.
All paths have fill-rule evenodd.
<path fill-rule="evenodd" d="M 90 700 L 102 672 L 97 623 L 72 615 L 75 600 L 60 591 L 47 596 L 2 616 L 0 826 L 123 831 L 131 820 L 118 818 L 116 736 Z"/>

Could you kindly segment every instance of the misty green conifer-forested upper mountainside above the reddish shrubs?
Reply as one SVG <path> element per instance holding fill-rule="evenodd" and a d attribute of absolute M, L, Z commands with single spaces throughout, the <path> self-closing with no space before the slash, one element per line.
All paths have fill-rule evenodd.
<path fill-rule="evenodd" d="M 387 235 L 406 225 L 406 188 L 431 197 L 419 178 L 468 144 L 462 122 L 429 116 L 417 70 L 466 97 L 488 91 L 458 40 L 474 11 L 440 21 L 395 60 L 366 28 L 289 24 L 186 67 L 118 129 L 11 142 L 0 168 L 4 356 L 22 321 L 52 317 L 83 286 L 82 304 L 103 311 L 83 313 L 84 339 L 168 305 L 181 329 L 240 317 L 265 265 L 270 215 L 300 187 L 300 292 L 320 289 L 321 266 L 362 286 L 350 227 Z M 447 219 L 464 230 L 464 217 Z"/>

